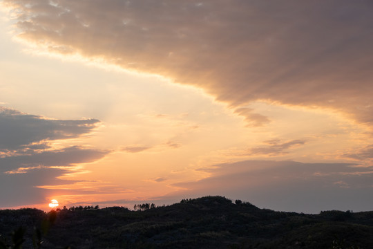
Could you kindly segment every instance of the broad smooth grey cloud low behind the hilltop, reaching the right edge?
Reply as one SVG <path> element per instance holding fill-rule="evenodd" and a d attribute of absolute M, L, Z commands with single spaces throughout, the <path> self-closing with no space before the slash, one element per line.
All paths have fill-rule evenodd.
<path fill-rule="evenodd" d="M 225 195 L 262 208 L 296 212 L 370 210 L 373 167 L 347 163 L 247 160 L 199 169 L 200 181 L 177 183 L 169 196 Z"/>

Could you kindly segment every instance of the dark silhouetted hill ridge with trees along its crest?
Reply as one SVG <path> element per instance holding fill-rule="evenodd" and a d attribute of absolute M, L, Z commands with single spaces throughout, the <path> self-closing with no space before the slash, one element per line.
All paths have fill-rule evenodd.
<path fill-rule="evenodd" d="M 373 248 L 373 212 L 275 212 L 221 196 L 143 207 L 60 210 L 41 248 Z M 0 210 L 1 237 L 23 225 L 32 248 L 32 227 L 47 216 Z"/>

